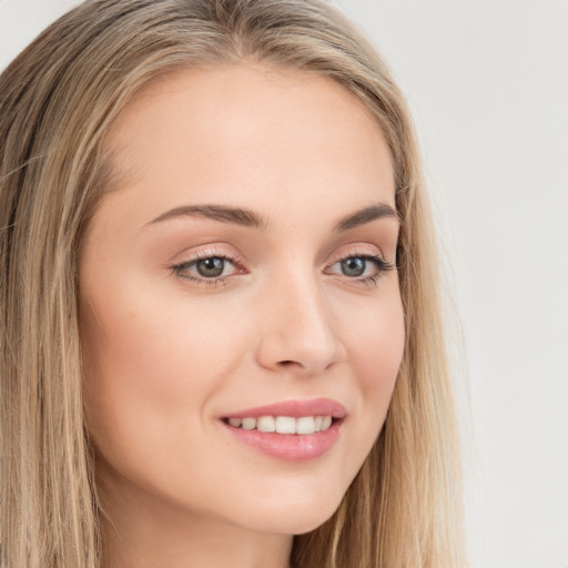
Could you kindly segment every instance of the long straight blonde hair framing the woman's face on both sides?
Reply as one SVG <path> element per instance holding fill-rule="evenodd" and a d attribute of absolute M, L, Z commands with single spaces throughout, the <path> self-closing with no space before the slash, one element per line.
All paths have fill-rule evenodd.
<path fill-rule="evenodd" d="M 77 266 L 113 184 L 104 135 L 164 73 L 261 61 L 337 81 L 392 152 L 406 348 L 385 426 L 338 510 L 296 536 L 297 568 L 450 568 L 460 470 L 430 213 L 412 122 L 365 37 L 324 0 L 91 0 L 0 75 L 1 565 L 95 568 Z"/>

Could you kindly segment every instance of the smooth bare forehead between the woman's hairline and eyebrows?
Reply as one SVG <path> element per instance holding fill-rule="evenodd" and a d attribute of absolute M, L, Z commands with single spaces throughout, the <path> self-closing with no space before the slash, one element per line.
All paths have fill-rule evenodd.
<path fill-rule="evenodd" d="M 390 153 L 371 112 L 308 71 L 179 71 L 126 105 L 106 145 L 129 172 L 125 189 L 151 194 L 154 211 L 187 197 L 261 209 L 307 194 L 322 206 L 349 195 L 354 207 L 395 202 Z"/>

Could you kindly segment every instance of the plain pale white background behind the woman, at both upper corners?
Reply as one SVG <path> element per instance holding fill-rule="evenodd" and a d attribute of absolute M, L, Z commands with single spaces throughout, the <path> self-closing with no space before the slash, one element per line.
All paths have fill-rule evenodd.
<path fill-rule="evenodd" d="M 0 0 L 0 69 L 75 3 Z M 409 99 L 452 266 L 471 568 L 568 568 L 568 0 L 339 3 Z"/>

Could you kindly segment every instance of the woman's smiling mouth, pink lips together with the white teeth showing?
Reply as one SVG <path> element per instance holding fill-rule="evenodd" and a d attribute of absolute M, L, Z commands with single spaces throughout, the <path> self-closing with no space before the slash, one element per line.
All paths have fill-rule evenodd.
<path fill-rule="evenodd" d="M 337 442 L 346 410 L 329 398 L 286 400 L 222 417 L 235 438 L 271 457 L 304 462 L 327 453 Z"/>

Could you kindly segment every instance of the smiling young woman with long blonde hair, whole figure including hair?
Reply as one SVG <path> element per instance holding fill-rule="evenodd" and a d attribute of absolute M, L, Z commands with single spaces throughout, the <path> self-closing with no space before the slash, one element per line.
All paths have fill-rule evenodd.
<path fill-rule="evenodd" d="M 463 565 L 416 143 L 341 13 L 85 2 L 0 139 L 2 566 Z"/>

